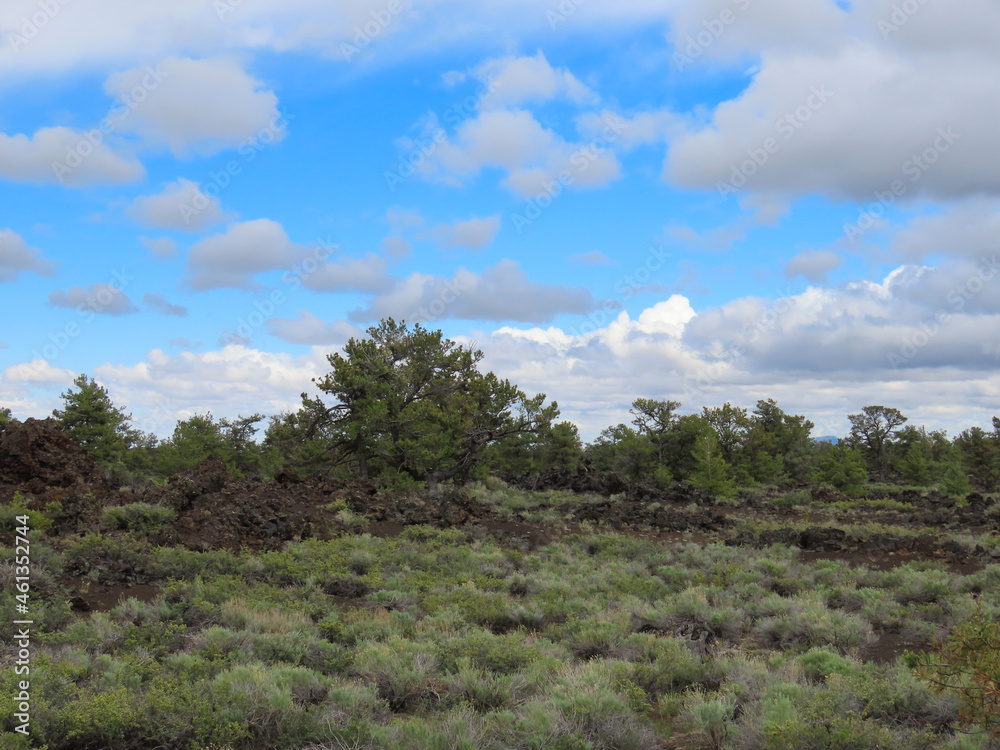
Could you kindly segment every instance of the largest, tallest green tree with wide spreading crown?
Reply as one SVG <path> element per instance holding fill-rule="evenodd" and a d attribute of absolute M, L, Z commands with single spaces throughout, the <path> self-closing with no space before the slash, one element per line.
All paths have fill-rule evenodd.
<path fill-rule="evenodd" d="M 331 459 L 353 462 L 362 476 L 405 475 L 433 488 L 468 476 L 487 446 L 551 429 L 558 406 L 479 372 L 482 358 L 441 331 L 392 318 L 352 338 L 315 381 L 337 400 L 315 407 L 334 435 Z"/>

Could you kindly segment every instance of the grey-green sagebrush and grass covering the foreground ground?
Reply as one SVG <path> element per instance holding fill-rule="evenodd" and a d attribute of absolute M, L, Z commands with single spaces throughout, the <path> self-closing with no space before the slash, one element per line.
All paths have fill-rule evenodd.
<path fill-rule="evenodd" d="M 475 492 L 511 514 L 593 502 L 496 482 Z M 608 533 L 521 550 L 460 529 L 379 538 L 346 523 L 281 551 L 191 552 L 152 546 L 142 532 L 157 511 L 132 512 L 61 549 L 33 544 L 45 600 L 36 733 L 2 747 L 988 746 L 951 729 L 948 695 L 898 660 L 864 657 L 886 633 L 929 645 L 977 598 L 997 617 L 997 565 L 874 570 L 803 562 L 783 545 Z M 855 539 L 921 533 L 839 527 Z M 160 596 L 61 609 L 64 575 L 110 583 L 124 561 Z M 0 593 L 7 611 L 11 591 Z M 0 680 L 10 694 L 12 670 Z"/>

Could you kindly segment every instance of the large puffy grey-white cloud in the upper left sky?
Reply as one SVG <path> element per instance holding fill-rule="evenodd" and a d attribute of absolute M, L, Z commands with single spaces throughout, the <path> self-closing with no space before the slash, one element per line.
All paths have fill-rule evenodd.
<path fill-rule="evenodd" d="M 267 142 L 285 135 L 278 97 L 230 58 L 168 57 L 114 73 L 104 90 L 126 102 L 145 92 L 119 127 L 166 145 L 175 156 L 205 156 L 255 135 Z"/>

